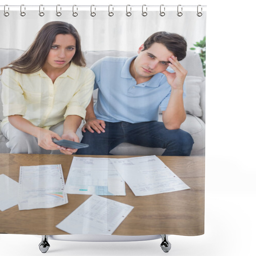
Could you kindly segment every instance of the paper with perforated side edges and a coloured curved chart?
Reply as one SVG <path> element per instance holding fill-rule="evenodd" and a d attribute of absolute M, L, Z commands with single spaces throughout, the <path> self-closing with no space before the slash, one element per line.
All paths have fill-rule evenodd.
<path fill-rule="evenodd" d="M 60 164 L 20 166 L 19 210 L 67 204 L 68 196 L 63 192 L 64 185 Z"/>

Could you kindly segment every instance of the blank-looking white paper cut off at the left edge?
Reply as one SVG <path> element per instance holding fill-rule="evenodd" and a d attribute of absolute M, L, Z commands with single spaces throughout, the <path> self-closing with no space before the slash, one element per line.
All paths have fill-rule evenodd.
<path fill-rule="evenodd" d="M 19 183 L 5 174 L 0 175 L 0 210 L 4 211 L 18 204 Z"/>

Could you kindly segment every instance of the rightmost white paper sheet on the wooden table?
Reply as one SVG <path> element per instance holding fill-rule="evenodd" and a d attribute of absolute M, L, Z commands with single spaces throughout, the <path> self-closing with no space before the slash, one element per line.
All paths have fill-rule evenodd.
<path fill-rule="evenodd" d="M 135 196 L 148 196 L 189 189 L 158 157 L 111 159 Z"/>

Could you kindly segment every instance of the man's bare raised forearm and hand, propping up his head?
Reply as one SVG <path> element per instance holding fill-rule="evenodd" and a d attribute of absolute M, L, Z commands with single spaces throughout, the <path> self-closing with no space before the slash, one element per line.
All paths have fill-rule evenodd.
<path fill-rule="evenodd" d="M 169 66 L 175 73 L 164 70 L 167 82 L 171 85 L 171 96 L 167 108 L 163 111 L 164 126 L 168 130 L 179 129 L 186 119 L 186 111 L 183 103 L 183 84 L 188 71 L 182 67 L 175 56 L 168 59 Z"/>

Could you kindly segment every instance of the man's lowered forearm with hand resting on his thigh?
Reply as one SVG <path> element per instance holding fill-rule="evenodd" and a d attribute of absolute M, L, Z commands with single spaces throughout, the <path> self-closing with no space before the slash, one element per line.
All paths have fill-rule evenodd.
<path fill-rule="evenodd" d="M 84 124 L 82 128 L 83 132 L 85 132 L 85 129 L 87 129 L 89 132 L 94 132 L 94 130 L 98 133 L 105 132 L 105 122 L 103 120 L 97 119 L 94 114 L 93 97 L 88 107 L 86 108 L 85 122 L 86 124 Z"/>

